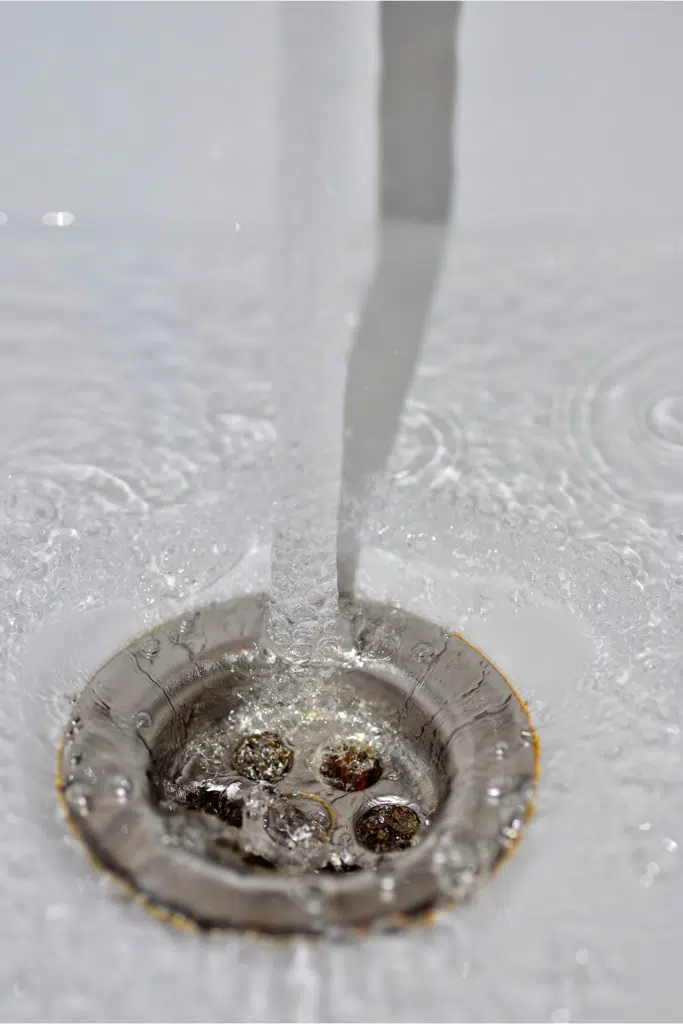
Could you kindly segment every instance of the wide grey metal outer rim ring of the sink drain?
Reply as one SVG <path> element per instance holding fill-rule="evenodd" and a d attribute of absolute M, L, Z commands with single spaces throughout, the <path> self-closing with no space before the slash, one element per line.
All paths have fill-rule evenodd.
<path fill-rule="evenodd" d="M 408 849 L 397 852 L 370 854 L 378 863 L 376 870 L 300 876 L 280 871 L 237 874 L 222 864 L 198 857 L 195 853 L 177 846 L 165 844 L 159 814 L 152 803 L 146 775 L 150 742 L 154 742 L 153 735 L 150 738 L 144 735 L 152 725 L 152 722 L 147 724 L 147 718 L 154 721 L 150 711 L 145 712 L 145 709 L 154 707 L 150 705 L 148 697 L 156 697 L 157 703 L 165 699 L 172 703 L 169 693 L 172 693 L 173 685 L 184 691 L 187 688 L 191 689 L 195 682 L 194 667 L 198 657 L 204 658 L 206 664 L 211 664 L 211 658 L 215 658 L 218 653 L 228 655 L 249 649 L 261 636 L 265 606 L 266 597 L 255 595 L 238 598 L 224 604 L 210 605 L 193 615 L 179 615 L 132 641 L 95 674 L 74 708 L 74 716 L 80 717 L 81 727 L 76 731 L 72 729 L 71 733 L 69 729 L 67 730 L 59 756 L 58 788 L 72 826 L 102 866 L 126 882 L 151 904 L 161 908 L 162 912 L 180 913 L 203 927 L 285 933 L 316 932 L 330 926 L 367 927 L 381 922 L 387 915 L 394 918 L 396 914 L 412 914 L 443 902 L 442 882 L 434 868 L 435 854 L 443 844 L 444 836 L 457 834 L 458 829 L 462 830 L 463 822 L 467 821 L 463 794 L 459 792 L 459 786 L 452 787 L 427 827 L 420 808 L 413 806 L 421 822 L 419 841 Z M 382 618 L 395 613 L 395 609 L 377 602 L 365 602 L 360 607 L 360 617 L 354 623 L 353 630 L 356 640 L 362 638 L 364 623 L 368 617 Z M 467 657 L 482 663 L 483 682 L 479 682 L 472 692 L 480 690 L 487 677 L 494 690 L 500 690 L 505 697 L 505 703 L 510 701 L 517 732 L 521 734 L 530 730 L 528 714 L 523 703 L 507 680 L 476 648 L 462 637 L 444 634 L 434 624 L 417 615 L 405 612 L 400 614 L 407 624 L 401 636 L 404 637 L 405 631 L 410 634 L 411 630 L 413 633 L 417 630 L 419 634 L 419 643 L 413 642 L 415 637 L 412 640 L 409 637 L 410 649 L 402 652 L 403 662 L 408 660 L 411 664 L 411 650 L 416 644 L 418 647 L 424 647 L 425 635 L 428 639 L 436 638 L 437 642 L 440 637 L 446 647 L 453 645 L 456 659 L 462 656 L 462 652 L 467 652 Z M 198 617 L 201 616 L 204 616 L 205 627 L 207 622 L 213 622 L 214 626 L 216 622 L 222 623 L 222 638 L 215 644 L 205 636 L 206 643 L 202 646 L 200 637 L 199 647 L 193 652 L 185 640 L 187 633 L 191 632 Z M 185 628 L 188 623 L 189 631 Z M 156 648 L 158 641 L 159 646 Z M 197 637 L 195 643 L 197 645 Z M 147 651 L 154 651 L 152 657 L 144 654 L 145 648 Z M 162 651 L 165 652 L 168 663 L 167 669 L 169 665 L 172 669 L 169 678 L 174 680 L 173 683 L 167 684 L 163 695 L 159 691 L 158 681 L 148 671 Z M 460 655 L 458 651 L 461 652 Z M 373 671 L 383 673 L 382 678 L 386 680 L 392 673 L 395 676 L 396 666 L 400 663 L 398 657 L 400 653 L 400 649 L 394 653 L 391 663 L 379 664 L 373 662 L 372 652 L 370 655 L 361 652 L 358 664 L 366 673 L 372 674 Z M 139 665 L 140 657 L 142 666 Z M 127 679 L 129 684 L 134 684 L 129 685 L 127 689 L 120 685 L 120 673 L 124 667 L 127 671 L 123 678 Z M 421 665 L 412 665 L 414 670 L 424 667 L 424 658 Z M 164 675 L 155 672 L 155 675 L 157 674 Z M 426 675 L 427 673 L 424 674 L 425 678 Z M 146 686 L 146 702 L 140 706 L 145 689 L 144 678 L 148 680 L 150 685 Z M 115 684 L 116 690 L 117 681 L 119 703 L 114 709 L 115 721 L 112 718 L 113 701 L 108 697 L 112 683 Z M 86 732 L 90 736 L 89 744 L 84 742 Z M 500 802 L 498 806 L 492 803 L 486 807 L 490 822 L 486 834 L 488 847 L 478 851 L 481 866 L 485 868 L 483 873 L 486 873 L 487 869 L 515 845 L 521 825 L 530 812 L 538 767 L 538 749 L 532 732 L 530 735 L 531 740 L 517 751 L 519 766 L 523 769 L 523 792 L 520 788 L 519 792 L 513 791 L 509 795 L 514 797 L 512 803 L 516 801 L 514 820 L 518 823 L 517 827 L 509 829 L 511 818 L 509 799 Z M 94 790 L 98 795 L 98 804 L 86 815 L 79 813 L 73 804 L 70 806 L 68 797 L 70 786 L 79 783 L 81 765 L 88 766 L 94 761 L 96 765 L 109 764 L 110 768 L 116 769 L 116 764 L 110 763 L 110 758 L 112 748 L 116 750 L 117 741 L 120 743 L 122 737 L 125 739 L 130 758 L 124 758 L 125 751 L 121 748 L 117 751 L 114 762 L 119 759 L 126 764 L 126 773 L 132 776 L 133 793 L 126 802 L 117 802 L 106 796 L 99 796 L 97 786 L 100 783 L 97 782 Z M 82 762 L 81 765 L 75 766 L 72 764 L 72 758 L 76 746 L 82 752 Z M 449 756 L 451 755 L 446 748 L 446 760 Z M 457 769 L 453 764 L 450 768 L 450 777 L 453 778 Z M 494 777 L 493 774 L 490 777 Z M 286 775 L 285 782 L 287 778 Z M 65 791 L 68 791 L 66 796 Z M 362 796 L 364 800 L 354 814 L 354 820 L 373 804 L 391 802 L 385 797 L 375 798 L 372 788 L 361 791 L 356 796 Z M 410 806 L 410 801 L 398 802 L 405 802 Z M 121 842 L 122 828 L 127 830 L 128 836 L 124 843 Z M 504 833 L 505 828 L 508 828 L 507 835 Z M 382 890 L 382 881 L 387 871 L 395 873 L 396 880 L 390 904 L 387 904 L 386 895 Z M 455 890 L 453 895 L 457 895 Z M 319 912 L 313 912 L 316 907 L 319 907 Z"/>

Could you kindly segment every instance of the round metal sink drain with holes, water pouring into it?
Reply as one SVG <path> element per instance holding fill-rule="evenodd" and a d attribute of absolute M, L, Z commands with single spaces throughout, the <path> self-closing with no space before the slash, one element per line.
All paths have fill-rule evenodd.
<path fill-rule="evenodd" d="M 457 636 L 375 603 L 352 648 L 288 664 L 266 599 L 132 642 L 78 699 L 59 790 L 96 859 L 206 927 L 311 932 L 461 899 L 517 840 L 526 713 Z"/>

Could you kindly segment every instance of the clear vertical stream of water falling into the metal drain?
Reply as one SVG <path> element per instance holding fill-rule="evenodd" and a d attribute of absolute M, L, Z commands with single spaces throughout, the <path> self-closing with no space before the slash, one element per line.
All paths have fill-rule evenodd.
<path fill-rule="evenodd" d="M 317 647 L 337 630 L 335 551 L 346 349 L 350 54 L 336 4 L 281 8 L 287 60 L 279 93 L 273 258 L 276 502 L 268 643 L 280 654 Z M 339 105 L 335 106 L 335 103 Z"/>

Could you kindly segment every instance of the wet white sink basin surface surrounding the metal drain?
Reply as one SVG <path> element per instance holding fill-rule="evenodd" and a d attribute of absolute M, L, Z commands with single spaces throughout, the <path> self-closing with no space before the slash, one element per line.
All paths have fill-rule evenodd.
<path fill-rule="evenodd" d="M 17 59 L 0 72 L 15 143 L 0 179 L 0 1013 L 677 1019 L 680 7 L 465 12 L 460 229 L 360 584 L 452 626 L 508 675 L 543 746 L 538 813 L 475 902 L 429 930 L 272 945 L 177 933 L 117 898 L 66 836 L 53 792 L 69 696 L 102 660 L 177 608 L 268 579 L 266 167 L 275 69 L 295 61 L 268 5 L 202 5 L 191 18 L 152 6 L 144 27 L 113 7 L 54 5 L 42 27 L 0 12 L 14 52 L 44 56 L 30 125 L 28 71 Z M 376 34 L 371 5 L 334 6 L 321 61 L 346 112 L 329 130 L 356 155 L 331 170 L 348 209 L 335 301 L 350 329 L 368 265 Z M 96 52 L 73 49 L 74 33 L 95 29 L 146 68 L 123 92 L 118 72 L 74 59 Z M 197 69 L 184 78 L 181 58 Z M 113 113 L 81 131 L 91 81 Z M 73 100 L 61 133 L 55 83 Z M 236 91 L 239 105 L 217 102 Z M 177 120 L 153 145 L 145 126 L 170 95 Z M 102 151 L 106 138 L 119 146 Z M 199 159 L 216 140 L 214 163 Z M 113 195 L 118 222 L 104 226 Z M 161 230 L 143 224 L 145 197 Z M 75 224 L 47 230 L 53 209 Z"/>

